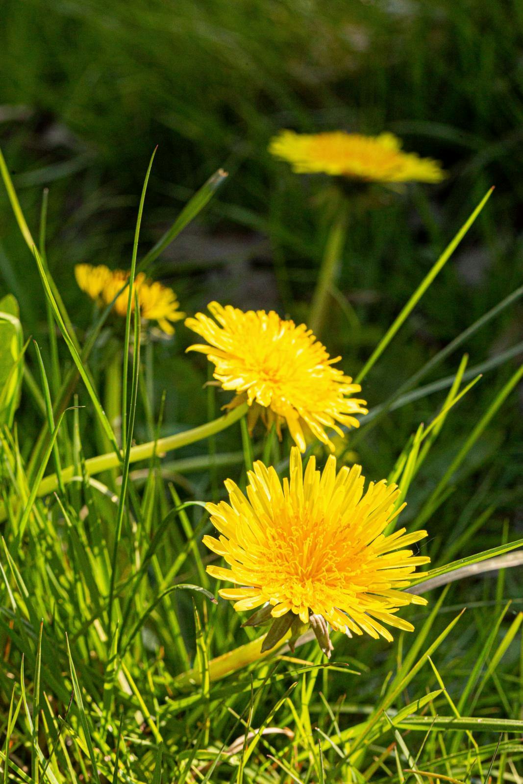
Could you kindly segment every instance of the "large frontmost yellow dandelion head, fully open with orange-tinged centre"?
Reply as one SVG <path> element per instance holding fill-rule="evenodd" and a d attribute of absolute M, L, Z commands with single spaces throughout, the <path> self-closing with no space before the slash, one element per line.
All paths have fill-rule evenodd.
<path fill-rule="evenodd" d="M 400 528 L 385 535 L 405 506 L 395 509 L 400 491 L 384 480 L 364 491 L 364 483 L 361 466 L 343 466 L 336 474 L 333 456 L 322 473 L 311 457 L 303 475 L 296 447 L 290 479 L 282 483 L 261 462 L 249 472 L 247 497 L 227 480 L 229 503 L 206 506 L 220 538 L 203 539 L 230 567 L 209 566 L 207 572 L 238 586 L 220 596 L 234 601 L 238 612 L 268 603 L 273 619 L 292 614 L 289 622 L 311 619 L 314 627 L 312 619 L 320 617 L 333 629 L 388 641 L 383 624 L 412 631 L 396 613 L 407 604 L 427 604 L 401 590 L 416 566 L 430 561 L 408 549 L 427 532 Z"/>

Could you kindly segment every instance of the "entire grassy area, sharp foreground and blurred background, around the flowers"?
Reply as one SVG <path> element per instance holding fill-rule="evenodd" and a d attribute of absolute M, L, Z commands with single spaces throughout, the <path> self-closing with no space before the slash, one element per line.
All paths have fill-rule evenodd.
<path fill-rule="evenodd" d="M 521 566 L 478 558 L 523 538 L 520 4 L 7 0 L 1 16 L 21 205 L 17 225 L 0 189 L 0 294 L 20 307 L 0 303 L 3 781 L 521 782 Z M 269 158 L 285 126 L 389 129 L 449 170 L 349 216 L 322 333 L 369 401 L 346 459 L 398 481 L 440 582 L 419 583 L 429 605 L 394 644 L 335 635 L 330 662 L 308 641 L 216 678 L 258 633 L 212 601 L 202 502 L 253 457 L 285 474 L 289 439 L 219 419 L 227 396 L 178 325 L 129 355 L 115 451 L 125 322 L 93 311 L 73 267 L 131 266 L 158 143 L 136 270 L 188 314 L 215 298 L 307 319 L 332 192 Z"/>

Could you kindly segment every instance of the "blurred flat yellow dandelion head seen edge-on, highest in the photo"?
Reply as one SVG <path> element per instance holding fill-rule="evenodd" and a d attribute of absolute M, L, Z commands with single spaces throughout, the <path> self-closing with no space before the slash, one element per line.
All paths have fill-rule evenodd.
<path fill-rule="evenodd" d="M 439 183 L 445 178 L 438 161 L 401 151 L 401 140 L 393 133 L 363 136 L 284 130 L 271 140 L 269 151 L 300 174 L 325 172 L 379 183 Z"/>

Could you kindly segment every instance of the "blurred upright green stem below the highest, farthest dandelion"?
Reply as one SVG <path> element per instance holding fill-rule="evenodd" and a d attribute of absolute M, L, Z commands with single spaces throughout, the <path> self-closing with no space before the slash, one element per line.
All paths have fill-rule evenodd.
<path fill-rule="evenodd" d="M 317 337 L 321 334 L 329 304 L 329 296 L 338 278 L 340 256 L 347 236 L 347 218 L 347 205 L 341 205 L 336 219 L 329 230 L 325 252 L 321 260 L 308 324 Z"/>

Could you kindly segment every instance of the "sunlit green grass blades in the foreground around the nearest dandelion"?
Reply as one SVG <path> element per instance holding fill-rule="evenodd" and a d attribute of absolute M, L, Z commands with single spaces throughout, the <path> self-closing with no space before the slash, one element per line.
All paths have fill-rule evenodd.
<path fill-rule="evenodd" d="M 392 379 L 361 419 L 358 440 L 348 442 L 365 455 L 376 443 L 387 444 L 391 411 L 411 417 L 412 434 L 390 461 L 389 479 L 401 500 L 409 500 L 409 529 L 423 525 L 430 532 L 423 552 L 432 568 L 412 587 L 430 606 L 410 611 L 416 631 L 399 632 L 394 644 L 340 635 L 330 661 L 307 635 L 294 652 L 277 646 L 261 655 L 258 632 L 240 627 L 205 573 L 201 540 L 210 526 L 202 507 L 223 498 L 224 476 L 245 484 L 254 456 L 263 454 L 285 474 L 289 435 L 281 444 L 274 432 L 249 437 L 246 406 L 220 416 L 212 385 L 202 398 L 204 424 L 188 418 L 176 428 L 165 423 L 157 374 L 162 357 L 180 349 L 141 334 L 139 304 L 133 309 L 130 298 L 123 339 L 129 364 L 116 384 L 122 394 L 107 395 L 113 387 L 106 373 L 116 383 L 108 347 L 111 339 L 121 340 L 107 320 L 111 307 L 82 335 L 49 271 L 45 210 L 37 247 L 3 158 L 0 165 L 27 258 L 42 281 L 44 296 L 34 292 L 35 307 L 58 327 L 42 330 L 35 346 L 24 343 L 20 319 L 4 305 L 2 326 L 14 338 L 2 377 L 9 405 L 2 407 L 0 434 L 4 781 L 517 782 L 523 613 L 518 581 L 507 568 L 521 561 L 522 542 L 508 524 L 492 526 L 481 546 L 475 539 L 500 503 L 488 497 L 496 466 L 481 442 L 523 368 L 510 366 L 514 349 L 471 368 L 463 354 L 452 376 L 419 383 L 474 332 L 492 326 L 522 290 L 399 388 Z M 140 257 L 144 188 L 125 284 L 131 296 L 136 270 L 149 267 L 176 239 L 223 177 L 218 172 L 205 183 Z M 487 199 L 427 276 L 416 279 L 405 307 L 360 363 L 359 379 L 387 358 L 401 325 Z M 188 367 L 178 365 L 179 372 Z M 485 381 L 481 407 L 474 396 Z M 167 394 L 182 382 L 173 375 Z M 434 403 L 430 395 L 438 392 L 445 395 Z M 426 407 L 425 423 L 412 416 L 416 399 Z M 463 405 L 475 406 L 474 427 L 451 454 L 438 452 L 441 433 Z M 24 435 L 31 416 L 40 428 L 35 439 Z M 121 437 L 114 429 L 118 418 Z M 318 444 L 312 447 L 325 459 Z M 452 525 L 441 524 L 452 492 L 481 463 L 476 497 L 470 494 L 459 511 L 450 506 Z M 492 565 L 494 580 L 485 576 Z"/>

